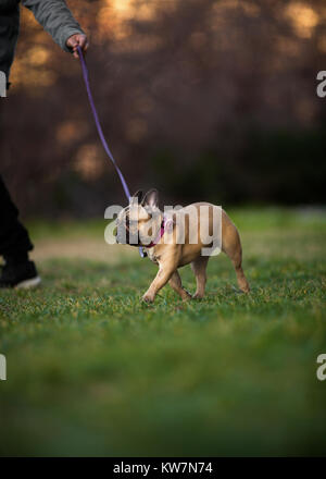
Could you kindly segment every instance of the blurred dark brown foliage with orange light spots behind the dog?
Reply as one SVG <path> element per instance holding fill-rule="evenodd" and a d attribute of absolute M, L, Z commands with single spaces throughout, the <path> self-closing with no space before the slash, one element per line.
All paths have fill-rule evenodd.
<path fill-rule="evenodd" d="M 96 105 L 131 191 L 165 204 L 323 204 L 325 0 L 70 0 Z M 1 171 L 29 216 L 124 204 L 79 62 L 22 9 Z"/>

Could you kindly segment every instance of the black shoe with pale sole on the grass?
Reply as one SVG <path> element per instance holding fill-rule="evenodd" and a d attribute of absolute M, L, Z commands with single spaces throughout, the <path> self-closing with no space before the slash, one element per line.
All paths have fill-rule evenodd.
<path fill-rule="evenodd" d="M 21 262 L 20 265 L 4 265 L 0 277 L 1 287 L 29 288 L 40 283 L 33 261 Z"/>

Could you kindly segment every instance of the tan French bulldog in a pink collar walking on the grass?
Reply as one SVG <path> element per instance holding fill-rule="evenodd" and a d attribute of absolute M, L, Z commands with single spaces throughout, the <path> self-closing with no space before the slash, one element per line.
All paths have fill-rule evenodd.
<path fill-rule="evenodd" d="M 239 288 L 243 293 L 250 291 L 241 266 L 242 249 L 238 230 L 221 207 L 195 202 L 163 213 L 159 209 L 156 189 L 149 191 L 143 198 L 142 193 L 137 192 L 128 207 L 118 213 L 115 235 L 116 243 L 142 247 L 146 256 L 159 265 L 155 279 L 142 296 L 146 303 L 152 303 L 167 282 L 184 300 L 202 298 L 206 266 L 213 256 L 210 247 L 218 238 L 216 249 L 220 248 L 231 260 Z M 197 282 L 193 296 L 183 287 L 178 273 L 178 268 L 189 263 Z"/>

